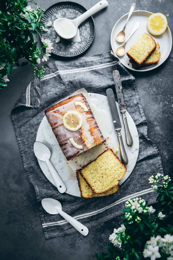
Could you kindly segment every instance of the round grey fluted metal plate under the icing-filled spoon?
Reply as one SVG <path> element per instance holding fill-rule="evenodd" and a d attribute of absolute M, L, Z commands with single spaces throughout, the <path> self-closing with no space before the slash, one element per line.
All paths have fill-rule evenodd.
<path fill-rule="evenodd" d="M 92 16 L 79 25 L 81 42 L 71 42 L 60 37 L 60 42 L 56 43 L 55 40 L 58 34 L 54 30 L 53 26 L 46 25 L 48 21 L 52 21 L 53 24 L 54 20 L 57 19 L 56 15 L 59 15 L 59 13 L 61 17 L 73 20 L 86 11 L 87 9 L 82 5 L 69 1 L 56 3 L 45 11 L 41 21 L 45 24 L 48 31 L 43 31 L 42 37 L 44 39 L 49 38 L 49 40 L 53 43 L 53 54 L 62 57 L 73 57 L 88 49 L 95 35 L 95 24 Z"/>

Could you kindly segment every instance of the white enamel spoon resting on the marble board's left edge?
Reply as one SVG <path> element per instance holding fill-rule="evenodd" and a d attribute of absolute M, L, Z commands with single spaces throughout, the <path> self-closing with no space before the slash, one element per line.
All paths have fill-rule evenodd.
<path fill-rule="evenodd" d="M 49 148 L 41 142 L 34 142 L 34 153 L 37 159 L 46 162 L 58 191 L 64 193 L 66 191 L 66 186 L 49 160 L 51 157 L 51 151 Z"/>

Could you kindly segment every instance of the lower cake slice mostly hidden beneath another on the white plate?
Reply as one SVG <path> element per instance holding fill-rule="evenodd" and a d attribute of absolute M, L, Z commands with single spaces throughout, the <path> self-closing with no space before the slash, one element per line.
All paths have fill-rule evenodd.
<path fill-rule="evenodd" d="M 132 67 L 134 69 L 140 69 L 140 68 L 144 68 L 144 67 L 148 67 L 148 66 L 157 64 L 159 62 L 159 60 L 160 60 L 160 51 L 159 51 L 159 49 L 160 49 L 160 46 L 159 46 L 159 44 L 157 42 L 156 49 L 153 51 L 153 53 L 148 57 L 148 59 L 141 66 L 138 66 L 137 64 L 135 64 L 133 61 L 131 61 L 129 59 L 129 61 L 132 63 Z"/>

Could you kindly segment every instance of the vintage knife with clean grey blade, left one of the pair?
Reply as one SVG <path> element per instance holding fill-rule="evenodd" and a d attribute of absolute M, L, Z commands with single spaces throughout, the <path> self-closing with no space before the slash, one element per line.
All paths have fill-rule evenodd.
<path fill-rule="evenodd" d="M 113 123 L 115 126 L 115 131 L 117 132 L 117 137 L 118 137 L 118 141 L 119 141 L 119 145 L 120 145 L 120 155 L 121 155 L 121 161 L 124 165 L 128 164 L 128 157 L 123 145 L 123 141 L 122 141 L 122 135 L 121 135 L 121 122 L 120 122 L 120 118 L 119 118 L 119 114 L 118 114 L 118 110 L 116 107 L 116 102 L 115 102 L 115 97 L 114 97 L 114 93 L 112 88 L 108 88 L 106 90 L 106 95 L 108 98 L 108 102 L 109 102 L 109 107 L 110 107 L 110 111 L 112 114 L 112 119 L 113 119 Z"/>

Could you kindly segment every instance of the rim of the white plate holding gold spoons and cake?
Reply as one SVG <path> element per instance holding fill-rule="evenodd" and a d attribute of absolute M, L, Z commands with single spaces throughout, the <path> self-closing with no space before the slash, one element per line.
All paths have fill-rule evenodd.
<path fill-rule="evenodd" d="M 149 12 L 149 11 L 145 11 L 145 10 L 135 10 L 135 11 L 133 12 L 133 14 L 136 13 L 136 12 L 145 12 L 146 14 L 150 14 L 150 15 L 154 14 L 153 12 Z M 126 14 L 124 14 L 123 16 L 121 16 L 120 19 L 114 24 L 114 27 L 112 28 L 111 35 L 110 35 L 110 45 L 111 45 L 111 48 L 112 48 L 112 41 L 113 41 L 113 40 L 112 40 L 112 37 L 113 37 L 113 30 L 114 30 L 114 28 L 115 28 L 116 24 L 117 24 L 124 16 L 127 16 L 128 14 L 129 14 L 129 13 L 126 13 Z M 170 37 L 170 39 L 171 39 L 171 44 L 170 44 L 170 50 L 168 50 L 168 55 L 166 56 L 165 60 L 164 60 L 161 64 L 156 64 L 155 67 L 149 66 L 149 68 L 148 68 L 148 69 L 145 69 L 145 70 L 138 70 L 138 69 L 131 68 L 131 67 L 127 66 L 126 64 L 123 64 L 123 63 L 120 61 L 121 64 L 122 64 L 124 67 L 126 67 L 126 68 L 128 68 L 128 69 L 131 69 L 131 70 L 133 70 L 133 71 L 137 71 L 137 72 L 145 72 L 145 71 L 153 70 L 153 69 L 159 67 L 160 65 L 162 65 L 162 64 L 168 59 L 169 54 L 170 54 L 171 49 L 172 49 L 172 35 L 171 35 L 171 31 L 170 31 L 168 25 L 167 25 L 167 28 L 168 28 L 168 32 L 169 32 L 169 34 L 170 34 L 170 36 L 171 36 L 171 37 Z M 112 48 L 112 51 L 113 51 L 113 48 Z M 113 51 L 113 53 L 114 53 L 114 51 Z M 118 56 L 116 55 L 116 53 L 114 53 L 114 55 L 118 58 Z M 119 58 L 118 58 L 118 59 L 119 59 Z"/>

